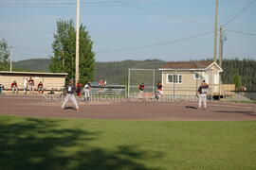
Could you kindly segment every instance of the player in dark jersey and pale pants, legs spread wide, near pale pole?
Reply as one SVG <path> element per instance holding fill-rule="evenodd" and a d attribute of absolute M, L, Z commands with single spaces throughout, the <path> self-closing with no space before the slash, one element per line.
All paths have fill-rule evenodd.
<path fill-rule="evenodd" d="M 74 94 L 76 92 L 76 86 L 74 85 L 74 82 L 72 79 L 70 79 L 69 83 L 65 86 L 65 92 L 66 92 L 66 95 L 64 97 L 64 103 L 63 103 L 62 109 L 64 110 L 64 105 L 69 99 L 71 99 L 74 105 L 76 106 L 76 110 L 79 110 L 78 102 Z"/>

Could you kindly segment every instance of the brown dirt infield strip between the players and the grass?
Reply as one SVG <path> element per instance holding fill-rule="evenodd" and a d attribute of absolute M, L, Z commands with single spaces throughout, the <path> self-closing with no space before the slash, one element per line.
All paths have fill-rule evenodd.
<path fill-rule="evenodd" d="M 196 102 L 94 101 L 80 102 L 80 110 L 61 110 L 61 101 L 42 96 L 0 96 L 0 114 L 115 120 L 241 121 L 256 120 L 255 104 L 209 102 L 207 110 L 198 110 Z M 70 106 L 73 106 L 70 103 Z"/>

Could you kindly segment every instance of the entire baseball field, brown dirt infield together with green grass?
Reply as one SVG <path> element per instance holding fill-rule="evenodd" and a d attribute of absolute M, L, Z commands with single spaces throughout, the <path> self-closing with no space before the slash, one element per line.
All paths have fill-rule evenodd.
<path fill-rule="evenodd" d="M 255 104 L 79 105 L 0 96 L 0 169 L 256 169 Z"/>

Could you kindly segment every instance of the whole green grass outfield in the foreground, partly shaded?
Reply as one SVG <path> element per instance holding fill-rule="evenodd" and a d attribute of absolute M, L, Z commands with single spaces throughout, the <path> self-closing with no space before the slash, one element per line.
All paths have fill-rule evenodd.
<path fill-rule="evenodd" d="M 256 169 L 256 122 L 0 116 L 0 169 Z"/>

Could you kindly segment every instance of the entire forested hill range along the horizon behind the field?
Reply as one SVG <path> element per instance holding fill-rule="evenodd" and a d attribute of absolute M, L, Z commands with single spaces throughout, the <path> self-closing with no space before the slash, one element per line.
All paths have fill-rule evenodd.
<path fill-rule="evenodd" d="M 128 79 L 128 68 L 157 69 L 166 61 L 159 59 L 146 60 L 123 60 L 113 62 L 96 62 L 95 81 L 107 79 L 109 84 L 126 84 Z M 27 59 L 13 63 L 13 70 L 49 72 L 50 59 Z M 223 61 L 223 83 L 233 83 L 233 75 L 241 76 L 244 86 L 256 86 L 256 60 L 255 59 L 224 59 Z M 158 73 L 156 73 L 158 74 Z M 133 75 L 135 76 L 135 75 Z M 139 77 L 134 77 L 137 81 L 144 81 Z M 160 80 L 156 75 L 155 81 Z"/>

